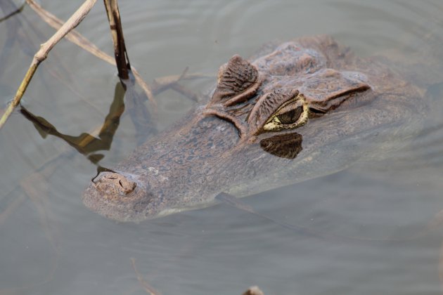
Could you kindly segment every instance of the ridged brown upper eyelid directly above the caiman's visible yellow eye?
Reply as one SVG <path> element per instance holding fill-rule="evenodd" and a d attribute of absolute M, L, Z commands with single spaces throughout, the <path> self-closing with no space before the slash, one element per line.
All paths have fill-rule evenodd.
<path fill-rule="evenodd" d="M 296 89 L 276 89 L 259 98 L 248 116 L 248 125 L 252 133 L 259 133 L 271 114 L 274 114 L 283 103 L 298 96 L 298 93 Z"/>

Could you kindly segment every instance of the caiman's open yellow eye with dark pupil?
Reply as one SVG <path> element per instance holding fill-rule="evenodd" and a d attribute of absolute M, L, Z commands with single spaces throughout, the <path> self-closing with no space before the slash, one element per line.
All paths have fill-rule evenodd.
<path fill-rule="evenodd" d="M 302 94 L 283 103 L 278 110 L 269 117 L 263 126 L 265 131 L 280 131 L 283 129 L 294 129 L 306 124 L 308 119 L 308 108 Z"/>

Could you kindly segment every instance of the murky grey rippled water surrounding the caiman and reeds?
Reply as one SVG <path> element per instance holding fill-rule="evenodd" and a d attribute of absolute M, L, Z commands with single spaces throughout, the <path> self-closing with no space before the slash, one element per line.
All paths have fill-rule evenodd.
<path fill-rule="evenodd" d="M 41 5 L 66 19 L 81 2 Z M 443 39 L 438 0 L 127 0 L 120 11 L 131 63 L 148 82 L 186 67 L 215 74 L 234 53 L 248 56 L 267 41 L 311 34 L 330 34 L 361 56 L 408 60 L 420 45 L 443 55 L 425 37 Z M 13 22 L 20 22 L 21 41 L 11 44 Z M 103 4 L 78 29 L 112 54 Z M 7 53 L 2 106 L 52 32 L 28 7 L 0 23 L 1 53 Z M 62 133 L 87 132 L 108 112 L 115 74 L 63 41 L 37 71 L 23 105 Z M 187 85 L 203 93 L 212 83 Z M 223 205 L 140 224 L 109 221 L 80 199 L 96 166 L 62 140 L 42 138 L 16 112 L 0 131 L 0 294 L 146 294 L 131 258 L 162 294 L 241 294 L 252 284 L 265 294 L 437 294 L 442 230 L 392 241 L 414 237 L 443 209 L 443 87 L 428 91 L 434 105 L 424 131 L 390 159 L 244 199 L 262 214 L 342 239 L 306 237 Z M 156 100 L 159 129 L 193 106 L 174 91 Z M 124 115 L 100 164 L 123 159 L 135 136 Z"/>

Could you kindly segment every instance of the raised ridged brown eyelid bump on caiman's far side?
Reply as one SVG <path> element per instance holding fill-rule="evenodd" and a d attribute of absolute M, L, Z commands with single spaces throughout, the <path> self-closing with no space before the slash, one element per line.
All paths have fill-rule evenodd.
<path fill-rule="evenodd" d="M 212 103 L 224 103 L 226 107 L 248 100 L 255 95 L 262 82 L 257 68 L 239 55 L 234 55 L 219 70 L 217 89 Z"/>

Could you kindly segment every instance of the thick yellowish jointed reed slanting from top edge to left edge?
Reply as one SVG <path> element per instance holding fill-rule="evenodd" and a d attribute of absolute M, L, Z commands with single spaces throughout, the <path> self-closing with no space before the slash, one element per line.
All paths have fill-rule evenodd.
<path fill-rule="evenodd" d="M 6 120 L 9 116 L 11 116 L 13 110 L 17 105 L 20 103 L 20 100 L 23 97 L 23 94 L 25 93 L 27 86 L 30 84 L 30 81 L 32 79 L 32 76 L 34 76 L 35 71 L 37 70 L 37 67 L 40 65 L 40 63 L 45 60 L 48 56 L 49 51 L 55 46 L 60 39 L 65 37 L 66 34 L 84 19 L 84 17 L 91 11 L 92 6 L 96 3 L 97 0 L 86 0 L 82 6 L 80 6 L 77 11 L 71 17 L 68 19 L 67 22 L 65 22 L 62 27 L 56 32 L 56 34 L 53 34 L 53 36 L 46 41 L 44 44 L 41 44 L 39 51 L 35 53 L 34 58 L 32 59 L 32 63 L 30 65 L 30 68 L 27 70 L 25 74 L 25 78 L 23 79 L 22 83 L 20 84 L 20 87 L 18 87 L 17 93 L 15 93 L 15 96 L 13 98 L 13 101 L 8 105 L 6 108 L 5 113 L 3 116 L 1 116 L 0 119 L 0 129 L 4 124 L 6 123 Z"/>

